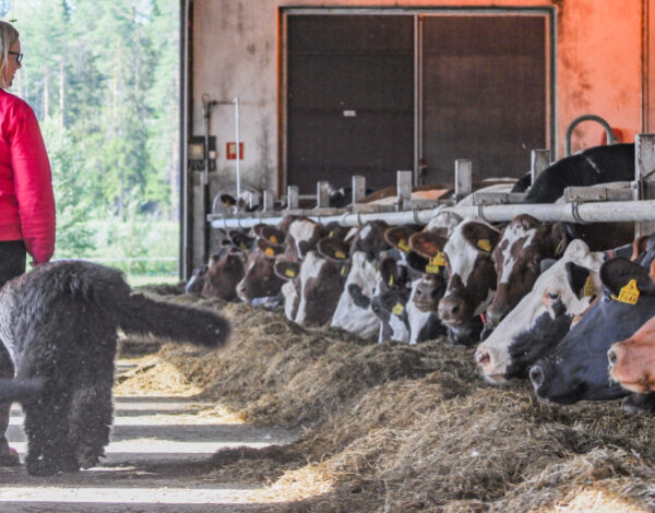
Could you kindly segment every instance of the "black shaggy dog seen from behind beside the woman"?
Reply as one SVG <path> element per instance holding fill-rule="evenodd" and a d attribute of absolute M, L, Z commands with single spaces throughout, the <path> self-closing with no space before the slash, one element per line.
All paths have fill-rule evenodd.
<path fill-rule="evenodd" d="M 132 293 L 119 271 L 81 261 L 45 264 L 0 290 L 0 402 L 20 401 L 27 472 L 48 476 L 98 463 L 109 442 L 117 330 L 218 346 L 221 315 Z"/>

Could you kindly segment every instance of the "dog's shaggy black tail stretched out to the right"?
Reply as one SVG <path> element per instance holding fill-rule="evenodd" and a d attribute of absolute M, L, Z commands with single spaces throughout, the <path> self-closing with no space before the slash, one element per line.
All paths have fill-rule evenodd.
<path fill-rule="evenodd" d="M 176 342 L 216 347 L 229 336 L 229 322 L 195 307 L 155 301 L 132 294 L 116 309 L 118 327 L 128 334 L 155 335 Z"/>

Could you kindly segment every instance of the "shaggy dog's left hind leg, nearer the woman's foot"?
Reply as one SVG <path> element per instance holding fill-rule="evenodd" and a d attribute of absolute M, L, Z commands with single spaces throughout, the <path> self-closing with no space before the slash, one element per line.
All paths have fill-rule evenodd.
<path fill-rule="evenodd" d="M 61 472 L 79 472 L 80 464 L 67 436 L 69 394 L 51 390 L 38 401 L 24 403 L 23 409 L 28 441 L 25 458 L 27 473 L 32 476 L 51 476 Z"/>

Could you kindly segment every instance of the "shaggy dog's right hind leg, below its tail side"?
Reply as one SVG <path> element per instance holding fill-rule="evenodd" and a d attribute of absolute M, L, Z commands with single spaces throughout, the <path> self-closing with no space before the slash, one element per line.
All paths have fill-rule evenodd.
<path fill-rule="evenodd" d="M 91 468 L 105 455 L 112 420 L 111 385 L 114 372 L 102 372 L 83 379 L 73 391 L 69 413 L 69 441 L 75 448 L 82 468 Z M 112 370 L 112 363 L 111 363 Z"/>

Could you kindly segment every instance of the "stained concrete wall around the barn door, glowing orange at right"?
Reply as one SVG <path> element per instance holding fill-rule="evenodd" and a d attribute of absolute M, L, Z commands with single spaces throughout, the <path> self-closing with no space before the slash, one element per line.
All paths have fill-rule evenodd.
<path fill-rule="evenodd" d="M 214 100 L 239 97 L 246 186 L 278 194 L 279 8 L 284 0 L 192 0 L 193 70 L 192 133 L 203 133 L 203 94 Z M 595 114 L 621 130 L 624 141 L 655 131 L 655 0 L 303 0 L 303 7 L 555 7 L 557 12 L 557 144 L 577 116 Z M 235 111 L 228 105 L 212 109 L 212 134 L 217 136 L 217 172 L 213 192 L 234 188 L 235 162 L 225 143 L 235 140 Z M 603 130 L 593 122 L 579 126 L 572 148 L 600 144 Z M 198 182 L 198 180 L 196 180 Z M 199 188 L 193 188 L 196 196 Z M 196 205 L 199 201 L 195 202 Z M 200 218 L 198 218 L 200 216 Z M 196 208 L 193 240 L 202 213 Z M 195 244 L 194 244 L 195 246 Z M 198 254 L 196 251 L 194 251 Z M 194 256 L 193 260 L 196 260 Z"/>

